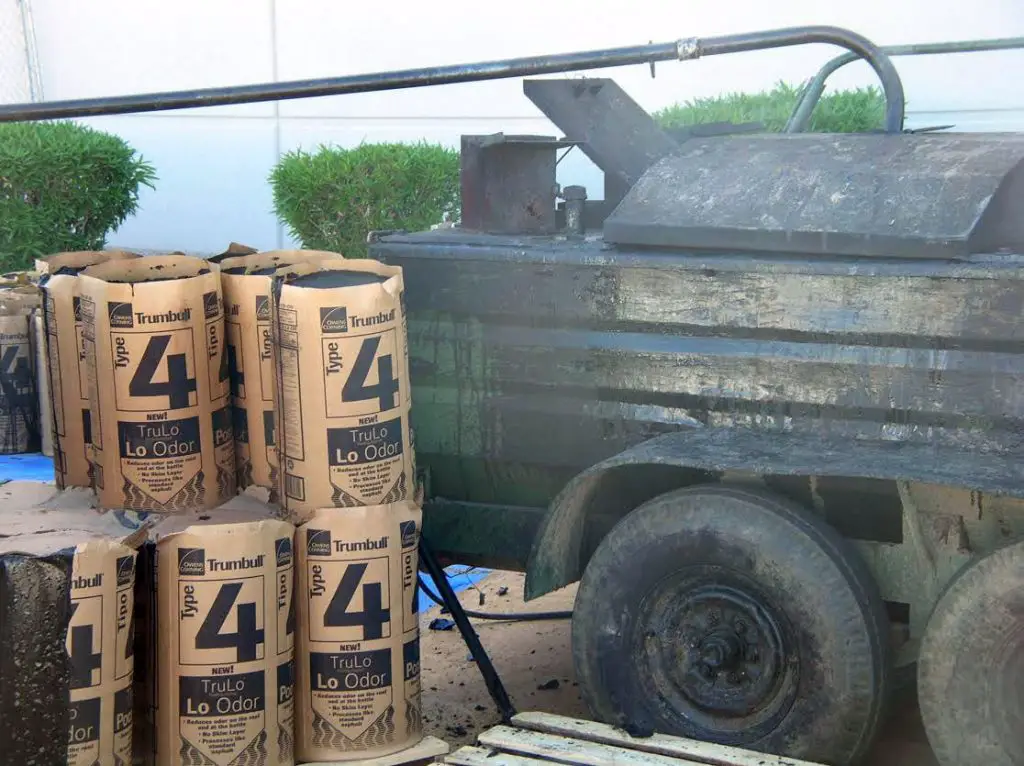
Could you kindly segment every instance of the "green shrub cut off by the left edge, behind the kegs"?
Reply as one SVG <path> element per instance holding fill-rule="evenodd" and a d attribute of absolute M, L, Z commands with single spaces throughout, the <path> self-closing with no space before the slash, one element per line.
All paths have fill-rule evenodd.
<path fill-rule="evenodd" d="M 69 122 L 0 125 L 0 264 L 98 250 L 153 188 L 153 167 L 118 136 Z"/>

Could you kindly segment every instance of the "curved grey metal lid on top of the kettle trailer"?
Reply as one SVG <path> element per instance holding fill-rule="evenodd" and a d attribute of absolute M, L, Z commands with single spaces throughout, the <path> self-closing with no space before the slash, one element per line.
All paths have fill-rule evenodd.
<path fill-rule="evenodd" d="M 691 139 L 609 215 L 606 242 L 944 258 L 1024 248 L 1024 135 Z"/>

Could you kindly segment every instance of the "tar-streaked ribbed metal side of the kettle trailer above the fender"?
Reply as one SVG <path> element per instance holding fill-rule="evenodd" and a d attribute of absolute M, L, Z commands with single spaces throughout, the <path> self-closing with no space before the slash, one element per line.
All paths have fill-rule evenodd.
<path fill-rule="evenodd" d="M 694 467 L 803 472 L 823 443 L 905 443 L 916 457 L 870 471 L 1024 488 L 989 470 L 1024 446 L 1020 256 L 651 254 L 458 230 L 372 254 L 404 269 L 418 454 L 450 501 L 545 506 L 574 473 L 693 429 L 751 434 Z M 802 438 L 810 452 L 782 446 Z M 829 454 L 822 472 L 858 475 Z"/>

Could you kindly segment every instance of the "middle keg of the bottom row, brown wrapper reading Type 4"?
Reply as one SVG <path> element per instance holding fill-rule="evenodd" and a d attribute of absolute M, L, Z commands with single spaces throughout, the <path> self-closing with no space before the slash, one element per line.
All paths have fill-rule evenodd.
<path fill-rule="evenodd" d="M 294 527 L 177 521 L 156 544 L 157 763 L 291 766 Z"/>

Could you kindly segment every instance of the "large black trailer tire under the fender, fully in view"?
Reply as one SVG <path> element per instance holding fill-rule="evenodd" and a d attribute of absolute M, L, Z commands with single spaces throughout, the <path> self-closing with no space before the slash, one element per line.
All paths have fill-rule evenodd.
<path fill-rule="evenodd" d="M 707 706 L 694 707 L 694 699 L 707 698 L 707 687 L 696 694 L 679 691 L 702 683 L 693 668 L 713 676 L 708 682 L 706 675 L 705 682 L 716 688 L 721 680 L 718 668 L 694 661 L 695 651 L 701 657 L 706 652 L 708 631 L 719 630 L 723 620 L 751 630 L 742 612 L 731 610 L 731 603 L 744 603 L 741 599 L 705 598 L 722 586 L 739 594 L 736 599 L 753 594 L 765 611 L 750 613 L 773 615 L 765 631 L 757 624 L 759 638 L 782 637 L 760 645 L 783 650 L 750 654 L 779 657 L 776 673 L 760 676 L 782 679 L 774 682 L 781 684 L 778 690 L 764 695 L 774 701 L 752 715 L 720 716 Z M 686 601 L 698 596 L 703 600 Z M 680 603 L 695 605 L 673 622 L 672 610 Z M 726 606 L 708 611 L 715 603 Z M 670 616 L 652 616 L 663 613 Z M 693 648 L 697 634 L 705 637 L 699 650 Z M 572 653 L 584 700 L 605 723 L 834 766 L 866 755 L 889 693 L 888 619 L 860 555 L 800 506 L 771 493 L 726 485 L 662 495 L 612 527 L 580 584 Z M 659 663 L 665 654 L 669 659 Z M 735 688 L 732 682 L 744 677 L 730 674 L 723 688 Z M 714 693 L 725 704 L 731 700 L 726 691 Z"/>

